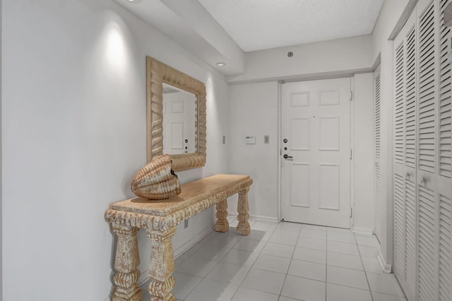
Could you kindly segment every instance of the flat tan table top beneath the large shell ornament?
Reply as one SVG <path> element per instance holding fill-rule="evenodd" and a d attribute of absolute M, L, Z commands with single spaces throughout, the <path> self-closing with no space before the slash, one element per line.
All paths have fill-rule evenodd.
<path fill-rule="evenodd" d="M 198 201 L 208 199 L 211 196 L 215 196 L 215 194 L 232 189 L 237 185 L 244 184 L 244 187 L 247 187 L 252 182 L 251 177 L 247 175 L 213 175 L 182 184 L 182 192 L 179 196 L 172 196 L 169 199 L 163 200 L 150 200 L 141 197 L 127 199 L 113 203 L 112 209 L 153 216 L 167 216 L 182 208 L 194 205 Z M 237 191 L 234 193 L 237 193 Z M 227 196 L 229 195 L 225 195 L 225 197 Z"/>

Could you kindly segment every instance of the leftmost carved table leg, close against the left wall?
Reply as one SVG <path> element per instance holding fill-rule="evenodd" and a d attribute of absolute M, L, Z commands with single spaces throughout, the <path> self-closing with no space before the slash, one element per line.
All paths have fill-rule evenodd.
<path fill-rule="evenodd" d="M 116 257 L 114 259 L 114 288 L 112 301 L 141 301 L 141 289 L 136 283 L 140 278 L 140 256 L 138 255 L 138 228 L 112 224 L 112 230 L 118 237 Z"/>

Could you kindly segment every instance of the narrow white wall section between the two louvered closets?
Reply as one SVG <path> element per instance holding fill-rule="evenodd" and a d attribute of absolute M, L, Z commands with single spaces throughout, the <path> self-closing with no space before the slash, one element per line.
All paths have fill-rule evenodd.
<path fill-rule="evenodd" d="M 411 0 L 410 0 L 411 1 Z M 386 0 L 372 38 L 374 59 L 381 60 L 381 254 L 386 264 L 393 262 L 393 41 L 388 40 L 403 15 L 408 0 Z"/>

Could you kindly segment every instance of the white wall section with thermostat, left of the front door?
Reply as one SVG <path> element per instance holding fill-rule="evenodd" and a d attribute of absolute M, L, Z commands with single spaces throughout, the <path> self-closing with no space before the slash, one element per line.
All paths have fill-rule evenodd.
<path fill-rule="evenodd" d="M 249 83 L 230 87 L 229 172 L 250 175 L 251 218 L 278 220 L 278 83 Z M 269 136 L 268 144 L 263 136 Z M 245 144 L 256 136 L 256 144 Z M 228 203 L 237 215 L 237 196 Z"/>

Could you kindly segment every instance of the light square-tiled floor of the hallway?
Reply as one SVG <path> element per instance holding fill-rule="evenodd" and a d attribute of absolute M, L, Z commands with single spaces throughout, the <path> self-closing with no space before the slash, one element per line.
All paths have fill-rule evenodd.
<path fill-rule="evenodd" d="M 350 230 L 250 220 L 251 234 L 211 232 L 176 260 L 177 300 L 406 301 L 381 271 L 378 241 Z M 144 300 L 149 300 L 146 292 Z"/>

